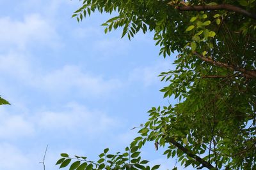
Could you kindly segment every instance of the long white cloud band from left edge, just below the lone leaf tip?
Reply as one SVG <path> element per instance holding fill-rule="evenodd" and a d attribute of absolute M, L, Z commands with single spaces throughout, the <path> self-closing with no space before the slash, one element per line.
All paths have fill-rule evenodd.
<path fill-rule="evenodd" d="M 19 139 L 35 136 L 41 130 L 58 134 L 65 131 L 71 134 L 93 134 L 92 138 L 103 132 L 120 126 L 118 118 L 111 117 L 102 111 L 91 111 L 77 103 L 68 103 L 58 110 L 42 109 L 40 111 L 13 110 L 0 108 L 0 139 Z M 19 111 L 20 110 L 20 111 Z M 60 131 L 61 130 L 61 131 Z"/>

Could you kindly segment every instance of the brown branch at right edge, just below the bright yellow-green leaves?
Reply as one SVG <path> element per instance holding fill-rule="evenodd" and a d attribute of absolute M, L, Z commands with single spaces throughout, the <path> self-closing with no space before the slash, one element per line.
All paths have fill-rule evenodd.
<path fill-rule="evenodd" d="M 256 70 L 246 70 L 244 68 L 239 68 L 239 67 L 236 67 L 236 66 L 232 66 L 232 65 L 229 65 L 227 63 L 224 63 L 224 62 L 218 62 L 218 61 L 215 61 L 215 60 L 212 60 L 211 58 L 209 57 L 204 57 L 204 55 L 200 55 L 199 53 L 197 52 L 193 52 L 199 59 L 201 60 L 204 60 L 205 62 L 209 62 L 211 64 L 214 64 L 216 66 L 220 66 L 220 67 L 225 67 L 231 71 L 239 71 L 241 73 L 243 73 L 243 75 L 246 77 L 246 78 L 256 78 Z"/>

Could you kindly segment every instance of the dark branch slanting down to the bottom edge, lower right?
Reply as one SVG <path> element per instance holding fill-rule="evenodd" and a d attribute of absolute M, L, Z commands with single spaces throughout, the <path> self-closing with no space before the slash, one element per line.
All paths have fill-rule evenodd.
<path fill-rule="evenodd" d="M 174 138 L 168 138 L 168 142 L 172 143 L 174 146 L 182 150 L 182 152 L 186 153 L 189 157 L 192 157 L 197 162 L 200 162 L 200 164 L 202 164 L 203 167 L 207 167 L 208 169 L 216 169 L 216 167 L 212 166 L 212 164 L 210 164 L 209 162 L 206 162 L 204 159 L 193 154 L 190 150 L 188 150 L 188 148 L 185 148 L 184 146 L 177 143 L 177 141 L 175 141 Z"/>

